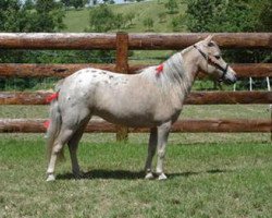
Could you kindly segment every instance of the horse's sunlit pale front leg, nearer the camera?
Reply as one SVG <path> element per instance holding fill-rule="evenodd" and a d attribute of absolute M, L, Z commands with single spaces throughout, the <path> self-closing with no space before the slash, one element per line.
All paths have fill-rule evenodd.
<path fill-rule="evenodd" d="M 163 172 L 163 161 L 164 161 L 165 147 L 168 143 L 171 124 L 172 124 L 171 122 L 168 122 L 158 126 L 158 148 L 157 148 L 158 161 L 157 161 L 156 173 L 159 175 L 159 180 L 168 179 Z"/>

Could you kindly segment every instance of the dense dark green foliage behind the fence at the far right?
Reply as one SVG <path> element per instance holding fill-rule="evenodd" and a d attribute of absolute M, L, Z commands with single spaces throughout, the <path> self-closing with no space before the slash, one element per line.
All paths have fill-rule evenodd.
<path fill-rule="evenodd" d="M 267 3 L 264 3 L 267 2 Z M 191 0 L 187 1 L 186 24 L 190 32 L 236 33 L 264 31 L 271 20 L 263 16 L 271 10 L 271 1 L 264 4 L 254 0 Z M 268 15 L 269 17 L 270 15 Z M 228 61 L 262 62 L 271 61 L 271 52 L 263 50 L 228 50 Z"/>

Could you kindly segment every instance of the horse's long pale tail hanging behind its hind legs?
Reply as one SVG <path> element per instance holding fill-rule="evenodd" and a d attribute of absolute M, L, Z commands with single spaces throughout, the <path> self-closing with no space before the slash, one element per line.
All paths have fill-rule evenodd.
<path fill-rule="evenodd" d="M 58 94 L 60 92 L 61 85 L 63 81 L 60 81 L 55 86 L 55 97 L 51 99 L 50 104 L 50 116 L 49 116 L 49 126 L 47 129 L 47 154 L 48 159 L 50 159 L 54 141 L 58 137 L 62 124 L 62 116 L 61 110 L 58 101 Z M 64 159 L 64 153 L 63 149 L 60 150 L 58 154 L 59 159 Z"/>

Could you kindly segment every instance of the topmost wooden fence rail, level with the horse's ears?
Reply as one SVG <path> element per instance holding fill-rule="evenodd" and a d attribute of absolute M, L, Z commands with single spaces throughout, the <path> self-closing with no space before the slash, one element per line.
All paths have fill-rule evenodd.
<path fill-rule="evenodd" d="M 140 50 L 183 49 L 209 34 L 129 34 L 128 48 Z M 272 48 L 272 33 L 220 33 L 222 48 Z M 2 49 L 115 49 L 115 34 L 0 34 Z"/>

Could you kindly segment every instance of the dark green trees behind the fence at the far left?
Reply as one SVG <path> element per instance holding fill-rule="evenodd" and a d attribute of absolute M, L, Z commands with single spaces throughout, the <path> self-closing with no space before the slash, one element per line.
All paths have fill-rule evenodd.
<path fill-rule="evenodd" d="M 64 13 L 59 3 L 53 0 L 37 0 L 30 10 L 29 4 L 22 4 L 21 0 L 0 1 L 1 32 L 57 32 L 64 27 Z M 38 51 L 0 50 L 0 62 L 51 62 L 53 57 Z M 50 61 L 51 60 L 51 61 Z M 5 84 L 20 89 L 33 87 L 37 83 L 34 78 L 0 80 L 0 88 Z"/>

